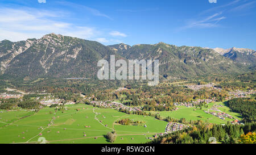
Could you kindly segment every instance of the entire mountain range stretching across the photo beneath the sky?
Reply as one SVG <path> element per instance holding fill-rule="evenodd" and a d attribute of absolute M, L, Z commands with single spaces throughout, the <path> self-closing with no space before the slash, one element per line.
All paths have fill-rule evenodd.
<path fill-rule="evenodd" d="M 115 44 L 50 33 L 40 39 L 0 41 L 1 77 L 96 78 L 97 62 L 104 58 L 159 60 L 159 76 L 181 79 L 209 74 L 245 73 L 255 67 L 255 51 L 241 48 L 201 48 L 158 44 Z"/>

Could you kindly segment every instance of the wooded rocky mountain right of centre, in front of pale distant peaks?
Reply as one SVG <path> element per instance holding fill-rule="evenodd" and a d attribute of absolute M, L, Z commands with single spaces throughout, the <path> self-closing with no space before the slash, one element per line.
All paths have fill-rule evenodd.
<path fill-rule="evenodd" d="M 119 49 L 119 53 L 127 59 L 158 59 L 160 74 L 167 79 L 233 74 L 247 70 L 246 66 L 233 62 L 213 49 L 201 47 L 177 47 L 166 43 L 138 44 L 125 52 Z"/>

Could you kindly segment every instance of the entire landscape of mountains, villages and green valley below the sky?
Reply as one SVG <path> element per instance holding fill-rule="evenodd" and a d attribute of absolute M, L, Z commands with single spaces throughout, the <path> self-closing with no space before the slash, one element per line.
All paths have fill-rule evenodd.
<path fill-rule="evenodd" d="M 98 79 L 98 60 L 111 55 L 159 60 L 158 85 Z M 255 62 L 242 48 L 106 46 L 54 33 L 3 40 L 0 143 L 255 143 Z M 129 151 L 154 150 L 139 147 Z"/>

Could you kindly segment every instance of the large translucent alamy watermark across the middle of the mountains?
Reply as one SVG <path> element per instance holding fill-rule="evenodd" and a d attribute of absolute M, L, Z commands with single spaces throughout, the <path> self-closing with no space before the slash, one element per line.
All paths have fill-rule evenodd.
<path fill-rule="evenodd" d="M 156 86 L 159 83 L 159 61 L 158 60 L 117 60 L 115 56 L 110 56 L 110 76 L 109 76 L 109 62 L 107 60 L 99 60 L 97 66 L 102 67 L 98 70 L 98 79 L 148 79 L 150 86 Z M 152 65 L 154 64 L 154 74 Z M 115 72 L 115 67 L 119 67 Z M 128 70 L 128 74 L 127 74 Z M 135 74 L 134 74 L 135 71 Z M 141 71 L 141 72 L 140 72 Z M 122 73 L 122 74 L 121 74 Z M 141 75 L 140 75 L 141 73 Z M 128 77 L 127 77 L 128 75 Z"/>

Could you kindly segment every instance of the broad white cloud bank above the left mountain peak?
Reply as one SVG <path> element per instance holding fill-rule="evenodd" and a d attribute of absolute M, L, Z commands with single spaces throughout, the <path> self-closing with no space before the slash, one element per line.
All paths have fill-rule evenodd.
<path fill-rule="evenodd" d="M 101 35 L 96 28 L 61 22 L 60 18 L 61 12 L 0 8 L 0 40 L 20 41 L 39 38 L 51 32 L 82 39 L 93 39 Z"/>

